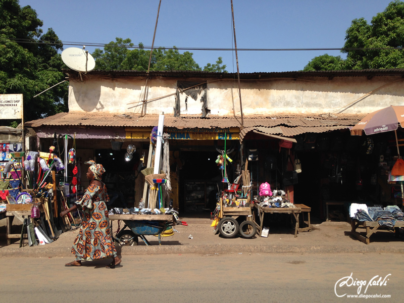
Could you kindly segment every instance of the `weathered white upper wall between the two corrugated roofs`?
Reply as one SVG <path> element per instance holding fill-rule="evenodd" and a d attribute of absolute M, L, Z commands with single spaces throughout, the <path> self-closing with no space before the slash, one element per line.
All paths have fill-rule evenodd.
<path fill-rule="evenodd" d="M 183 79 L 180 79 L 183 80 Z M 187 79 L 192 80 L 192 79 Z M 398 80 L 398 81 L 396 81 Z M 200 79 L 193 80 L 199 81 Z M 393 82 L 396 81 L 396 82 Z M 393 82 L 393 83 L 391 83 Z M 148 81 L 147 99 L 163 97 L 176 91 L 177 79 Z M 137 78 L 87 78 L 70 81 L 70 112 L 129 113 L 140 112 L 145 80 Z M 385 85 L 387 84 L 387 85 Z M 377 89 L 381 86 L 384 87 Z M 300 80 L 242 80 L 241 98 L 244 115 L 273 113 L 330 113 L 374 91 L 344 113 L 369 113 L 390 105 L 404 105 L 404 79 L 401 77 L 308 77 Z M 195 101 L 181 95 L 181 115 L 200 115 L 200 96 Z M 129 105 L 129 103 L 135 103 Z M 140 105 L 136 107 L 136 105 Z M 148 114 L 172 114 L 175 96 L 167 96 L 147 104 Z M 240 112 L 237 83 L 232 80 L 208 79 L 208 108 L 213 115 Z"/>

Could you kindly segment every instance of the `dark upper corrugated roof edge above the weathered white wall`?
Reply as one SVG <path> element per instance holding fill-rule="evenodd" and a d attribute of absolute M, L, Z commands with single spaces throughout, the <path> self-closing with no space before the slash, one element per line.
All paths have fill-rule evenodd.
<path fill-rule="evenodd" d="M 78 74 L 74 70 L 63 69 L 66 74 Z M 289 71 L 289 72 L 254 72 L 240 73 L 240 79 L 268 79 L 274 77 L 297 78 L 297 77 L 357 77 L 357 76 L 392 76 L 403 75 L 404 69 L 364 69 L 364 70 L 337 70 L 337 71 Z M 174 78 L 219 78 L 234 79 L 236 73 L 215 73 L 205 71 L 146 71 L 135 70 L 93 70 L 87 73 L 91 75 L 106 76 L 131 76 L 131 77 L 174 77 Z"/>

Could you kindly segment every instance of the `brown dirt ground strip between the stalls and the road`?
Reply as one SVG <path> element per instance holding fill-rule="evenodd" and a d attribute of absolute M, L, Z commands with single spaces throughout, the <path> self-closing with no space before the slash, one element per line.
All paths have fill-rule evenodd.
<path fill-rule="evenodd" d="M 236 237 L 232 239 L 225 239 L 219 235 L 214 234 L 214 228 L 211 227 L 212 221 L 209 219 L 198 218 L 182 218 L 181 220 L 187 221 L 188 226 L 177 225 L 173 236 L 163 237 L 162 245 L 349 245 L 349 246 L 383 246 L 386 243 L 394 245 L 394 247 L 404 248 L 404 240 L 395 237 L 395 234 L 389 230 L 380 230 L 372 235 L 371 243 L 366 245 L 358 239 L 350 235 L 350 224 L 347 222 L 323 222 L 320 224 L 312 224 L 311 232 L 300 232 L 297 237 L 294 237 L 294 229 L 287 224 L 268 224 L 270 225 L 269 236 L 267 238 L 260 237 L 258 234 L 252 239 L 244 239 Z M 2 220 L 5 221 L 5 220 Z M 16 220 L 16 222 L 18 222 Z M 21 226 L 13 226 L 14 232 L 21 232 Z M 114 221 L 114 230 L 118 228 L 117 221 Z M 123 222 L 121 223 L 123 228 Z M 4 229 L 4 227 L 3 227 Z M 365 231 L 365 229 L 358 229 L 358 231 Z M 1 230 L 0 230 L 1 232 Z M 71 247 L 77 230 L 71 230 L 62 235 L 53 243 L 46 244 L 47 247 Z M 189 236 L 192 235 L 192 239 Z M 158 237 L 146 236 L 151 245 L 158 245 Z M 9 248 L 17 248 L 19 246 L 19 239 L 7 246 Z M 27 240 L 25 240 L 25 245 Z M 144 246 L 139 239 L 139 246 Z M 5 246 L 5 240 L 0 241 L 0 246 Z"/>

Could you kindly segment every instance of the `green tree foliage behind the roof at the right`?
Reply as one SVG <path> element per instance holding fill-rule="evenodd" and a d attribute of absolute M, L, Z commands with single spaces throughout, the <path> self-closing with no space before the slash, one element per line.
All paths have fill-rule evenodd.
<path fill-rule="evenodd" d="M 391 2 L 387 8 L 372 18 L 370 24 L 364 19 L 354 19 L 346 30 L 344 48 L 389 48 L 404 46 L 404 2 Z M 339 62 L 338 57 L 328 56 L 314 58 L 304 70 L 313 65 L 321 70 L 333 66 L 335 69 L 385 69 L 404 68 L 404 51 L 402 49 L 343 49 L 346 59 Z M 334 58 L 331 58 L 334 57 Z M 320 60 L 320 59 L 321 60 Z M 313 61 L 315 61 L 313 63 Z M 321 61 L 328 64 L 321 64 Z M 320 63 L 320 64 L 319 64 Z M 318 69 L 314 69 L 318 70 Z"/>

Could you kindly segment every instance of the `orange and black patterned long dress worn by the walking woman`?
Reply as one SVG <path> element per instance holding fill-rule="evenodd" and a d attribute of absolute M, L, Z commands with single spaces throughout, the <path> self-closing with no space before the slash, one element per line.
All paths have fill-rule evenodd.
<path fill-rule="evenodd" d="M 83 209 L 83 224 L 72 247 L 72 254 L 76 255 L 76 261 L 92 261 L 117 256 L 108 220 L 106 202 L 109 200 L 105 184 L 103 187 L 91 184 L 81 200 L 76 202 Z"/>

